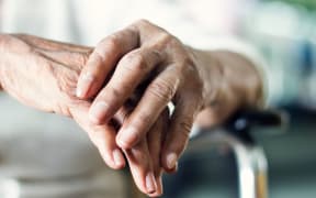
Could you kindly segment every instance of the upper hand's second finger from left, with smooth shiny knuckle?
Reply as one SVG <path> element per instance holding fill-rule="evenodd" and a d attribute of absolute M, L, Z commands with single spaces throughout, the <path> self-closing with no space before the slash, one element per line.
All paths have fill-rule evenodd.
<path fill-rule="evenodd" d="M 93 101 L 90 109 L 91 121 L 109 121 L 160 61 L 160 54 L 155 50 L 138 48 L 126 54 L 111 80 Z"/>

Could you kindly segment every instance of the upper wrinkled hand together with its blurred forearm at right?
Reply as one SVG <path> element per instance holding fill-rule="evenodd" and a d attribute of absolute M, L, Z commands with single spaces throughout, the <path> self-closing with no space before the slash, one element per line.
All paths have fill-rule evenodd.
<path fill-rule="evenodd" d="M 139 87 L 145 87 L 142 98 L 125 119 L 116 142 L 123 148 L 137 144 L 173 102 L 161 154 L 166 170 L 177 167 L 198 113 L 217 124 L 241 106 L 257 106 L 262 96 L 260 77 L 246 58 L 190 48 L 145 20 L 97 45 L 80 74 L 77 96 L 97 96 L 89 114 L 93 123 L 103 124 Z"/>

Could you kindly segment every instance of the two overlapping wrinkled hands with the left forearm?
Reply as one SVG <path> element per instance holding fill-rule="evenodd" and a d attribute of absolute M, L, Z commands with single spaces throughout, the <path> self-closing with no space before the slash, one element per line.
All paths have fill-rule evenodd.
<path fill-rule="evenodd" d="M 72 118 L 110 167 L 128 163 L 137 187 L 155 197 L 206 103 L 192 51 L 143 20 L 95 48 L 3 34 L 0 81 L 21 102 Z"/>

